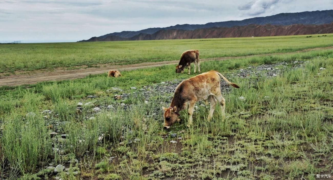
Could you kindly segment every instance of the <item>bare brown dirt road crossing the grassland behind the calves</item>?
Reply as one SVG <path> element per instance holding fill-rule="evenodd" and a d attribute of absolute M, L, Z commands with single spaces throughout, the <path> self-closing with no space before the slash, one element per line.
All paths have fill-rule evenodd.
<path fill-rule="evenodd" d="M 267 54 L 258 54 L 258 55 L 249 55 L 249 56 L 237 56 L 237 57 L 222 57 L 222 58 L 209 58 L 209 59 L 200 59 L 200 61 L 212 61 L 212 60 L 227 60 L 227 59 L 237 59 L 253 56 L 269 56 L 269 55 L 281 55 L 281 54 L 294 54 L 299 52 L 320 50 L 320 49 L 333 49 L 331 47 L 322 47 L 322 48 L 313 48 L 313 49 L 304 49 L 295 52 L 288 53 L 267 53 Z M 77 79 L 83 78 L 90 74 L 101 74 L 106 73 L 110 69 L 118 69 L 122 71 L 128 71 L 133 69 L 147 68 L 147 67 L 157 67 L 163 65 L 171 65 L 178 63 L 179 60 L 174 61 L 161 61 L 161 62 L 145 62 L 140 64 L 131 64 L 131 65 L 110 65 L 105 64 L 107 67 L 98 67 L 98 68 L 87 68 L 87 69 L 75 69 L 75 70 L 63 70 L 56 69 L 50 72 L 38 72 L 31 75 L 11 75 L 0 77 L 0 86 L 19 86 L 25 84 L 36 84 L 42 81 L 55 81 L 55 80 L 68 80 L 68 79 Z M 204 64 L 201 64 L 204 66 Z"/>

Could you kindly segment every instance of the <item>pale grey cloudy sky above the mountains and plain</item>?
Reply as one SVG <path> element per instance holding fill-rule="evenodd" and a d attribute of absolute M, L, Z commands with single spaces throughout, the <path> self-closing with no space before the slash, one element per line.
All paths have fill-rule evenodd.
<path fill-rule="evenodd" d="M 0 42 L 73 42 L 120 31 L 333 9 L 333 0 L 0 0 Z"/>

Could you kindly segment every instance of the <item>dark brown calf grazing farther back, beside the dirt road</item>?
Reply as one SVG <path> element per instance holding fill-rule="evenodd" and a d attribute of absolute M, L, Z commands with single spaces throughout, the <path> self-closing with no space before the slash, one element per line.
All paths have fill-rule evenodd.
<path fill-rule="evenodd" d="M 199 60 L 199 51 L 198 50 L 187 50 L 183 52 L 180 56 L 180 61 L 176 66 L 176 73 L 183 73 L 184 68 L 188 66 L 188 74 L 190 74 L 191 63 L 194 62 L 194 72 L 196 70 L 195 65 L 198 65 L 198 72 L 200 73 L 200 60 Z"/>

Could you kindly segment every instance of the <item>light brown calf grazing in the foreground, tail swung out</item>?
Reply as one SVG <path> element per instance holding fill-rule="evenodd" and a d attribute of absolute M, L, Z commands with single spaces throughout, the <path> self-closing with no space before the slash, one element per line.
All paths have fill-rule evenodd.
<path fill-rule="evenodd" d="M 197 101 L 205 101 L 206 104 L 208 104 L 207 100 L 210 101 L 209 121 L 213 115 L 216 101 L 220 105 L 221 113 L 224 114 L 225 99 L 221 95 L 220 77 L 231 86 L 239 88 L 238 85 L 228 81 L 221 73 L 213 70 L 196 75 L 178 84 L 170 106 L 168 108 L 162 107 L 164 110 L 164 129 L 168 129 L 175 121 L 179 121 L 178 112 L 186 108 L 188 108 L 187 126 L 189 127 L 192 124 L 192 113 Z"/>

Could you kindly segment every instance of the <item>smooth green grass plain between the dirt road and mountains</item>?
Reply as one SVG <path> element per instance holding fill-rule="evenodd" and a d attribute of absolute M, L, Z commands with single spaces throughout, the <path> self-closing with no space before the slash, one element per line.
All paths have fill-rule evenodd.
<path fill-rule="evenodd" d="M 216 38 L 155 41 L 84 43 L 0 44 L 0 73 L 58 67 L 96 67 L 96 64 L 135 64 L 179 59 L 188 49 L 198 49 L 200 58 L 293 52 L 333 46 L 333 35 Z M 6 74 L 4 74 L 6 75 Z"/>

